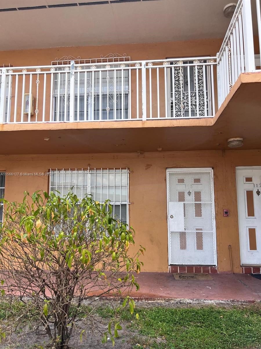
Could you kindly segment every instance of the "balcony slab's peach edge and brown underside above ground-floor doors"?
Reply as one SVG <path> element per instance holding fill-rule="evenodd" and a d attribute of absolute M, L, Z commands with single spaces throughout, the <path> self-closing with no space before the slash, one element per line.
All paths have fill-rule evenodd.
<path fill-rule="evenodd" d="M 0 154 L 222 150 L 232 137 L 244 138 L 239 149 L 261 149 L 260 96 L 261 72 L 245 73 L 214 118 L 4 124 Z"/>

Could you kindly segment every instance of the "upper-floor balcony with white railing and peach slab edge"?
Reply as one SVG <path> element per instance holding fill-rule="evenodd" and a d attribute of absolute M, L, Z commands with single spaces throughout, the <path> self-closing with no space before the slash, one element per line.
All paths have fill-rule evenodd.
<path fill-rule="evenodd" d="M 1 131 L 198 126 L 199 139 L 212 135 L 218 147 L 217 133 L 223 133 L 224 139 L 234 136 L 234 125 L 240 134 L 246 129 L 247 113 L 260 115 L 260 47 L 260 1 L 239 0 L 213 57 L 131 60 L 125 54 L 108 54 L 95 59 L 62 57 L 48 66 L 3 67 Z M 240 101 L 248 108 L 242 109 Z M 256 118 L 248 130 L 256 145 L 259 125 Z M 213 127 L 206 131 L 205 126 Z M 162 132 L 159 148 L 160 138 L 170 131 Z M 190 135 L 179 132 L 177 139 Z M 178 149 L 193 149 L 183 144 Z M 253 144 L 250 147 L 256 147 Z M 150 150 L 144 145 L 140 149 Z"/>

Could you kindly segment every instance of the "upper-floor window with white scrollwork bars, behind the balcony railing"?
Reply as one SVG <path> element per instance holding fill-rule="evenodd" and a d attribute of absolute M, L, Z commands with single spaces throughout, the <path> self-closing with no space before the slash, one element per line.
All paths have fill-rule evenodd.
<path fill-rule="evenodd" d="M 119 68 L 118 65 L 114 67 Z M 105 66 L 100 68 L 104 69 Z M 59 69 L 62 68 L 57 68 Z M 128 70 L 102 70 L 101 74 L 99 70 L 92 72 L 76 70 L 74 76 L 74 121 L 100 120 L 100 110 L 101 120 L 128 118 Z M 54 121 L 69 121 L 69 73 L 54 74 L 53 96 Z"/>

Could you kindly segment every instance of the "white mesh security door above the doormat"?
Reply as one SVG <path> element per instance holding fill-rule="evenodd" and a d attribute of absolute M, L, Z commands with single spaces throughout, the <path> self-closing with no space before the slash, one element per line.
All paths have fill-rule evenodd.
<path fill-rule="evenodd" d="M 167 169 L 169 264 L 216 265 L 212 169 Z"/>

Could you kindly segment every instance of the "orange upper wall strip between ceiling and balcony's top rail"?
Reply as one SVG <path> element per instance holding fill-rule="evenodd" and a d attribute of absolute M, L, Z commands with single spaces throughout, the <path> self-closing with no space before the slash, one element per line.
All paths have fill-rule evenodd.
<path fill-rule="evenodd" d="M 55 58 L 80 56 L 81 59 L 100 58 L 109 53 L 126 53 L 131 60 L 179 57 L 215 56 L 222 39 L 201 39 L 165 43 L 121 44 L 104 46 L 55 47 L 50 49 L 0 51 L 0 65 L 16 67 L 50 65 Z"/>

